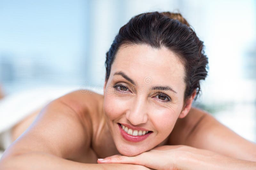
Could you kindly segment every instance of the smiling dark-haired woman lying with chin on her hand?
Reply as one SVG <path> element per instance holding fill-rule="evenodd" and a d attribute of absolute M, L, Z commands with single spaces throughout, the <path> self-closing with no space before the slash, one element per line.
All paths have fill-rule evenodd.
<path fill-rule="evenodd" d="M 52 101 L 0 167 L 255 169 L 254 143 L 191 108 L 207 63 L 180 14 L 133 17 L 107 52 L 104 95 L 75 91 Z"/>

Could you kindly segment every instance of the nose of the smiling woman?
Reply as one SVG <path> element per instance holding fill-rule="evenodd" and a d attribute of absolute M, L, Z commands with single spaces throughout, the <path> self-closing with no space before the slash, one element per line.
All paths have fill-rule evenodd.
<path fill-rule="evenodd" d="M 148 121 L 147 101 L 136 97 L 125 116 L 133 125 L 146 123 Z"/>

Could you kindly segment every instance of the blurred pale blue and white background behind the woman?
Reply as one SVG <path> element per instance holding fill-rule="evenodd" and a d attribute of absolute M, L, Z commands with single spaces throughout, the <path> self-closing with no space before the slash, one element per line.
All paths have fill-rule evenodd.
<path fill-rule="evenodd" d="M 0 98 L 31 107 L 31 94 L 102 88 L 119 28 L 151 11 L 180 11 L 204 41 L 209 75 L 194 106 L 256 142 L 255 0 L 0 0 Z"/>

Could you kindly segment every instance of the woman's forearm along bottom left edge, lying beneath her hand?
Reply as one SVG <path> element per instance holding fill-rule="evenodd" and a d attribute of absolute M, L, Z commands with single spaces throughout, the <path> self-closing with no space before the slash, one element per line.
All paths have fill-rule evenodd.
<path fill-rule="evenodd" d="M 142 168 L 147 169 L 140 165 L 131 164 L 85 164 L 63 159 L 48 153 L 43 152 L 30 152 L 15 155 L 7 159 L 1 159 L 0 169 L 66 169 L 66 170 L 84 170 L 84 169 L 133 169 Z"/>

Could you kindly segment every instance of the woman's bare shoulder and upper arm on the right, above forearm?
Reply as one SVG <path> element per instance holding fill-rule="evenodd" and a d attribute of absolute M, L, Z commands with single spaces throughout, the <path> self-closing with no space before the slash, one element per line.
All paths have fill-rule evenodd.
<path fill-rule="evenodd" d="M 192 108 L 187 117 L 177 121 L 172 134 L 172 145 L 188 145 L 231 158 L 256 161 L 255 143 L 242 138 L 203 110 Z"/>

